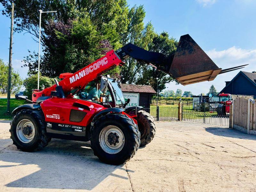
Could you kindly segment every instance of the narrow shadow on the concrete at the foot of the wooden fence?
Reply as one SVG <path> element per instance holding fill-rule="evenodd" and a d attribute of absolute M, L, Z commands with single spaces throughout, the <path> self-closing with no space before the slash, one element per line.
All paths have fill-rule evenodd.
<path fill-rule="evenodd" d="M 205 131 L 218 136 L 247 139 L 247 140 L 256 140 L 256 135 L 247 135 L 235 129 L 216 128 L 216 127 L 204 127 L 204 128 L 205 128 Z"/>

